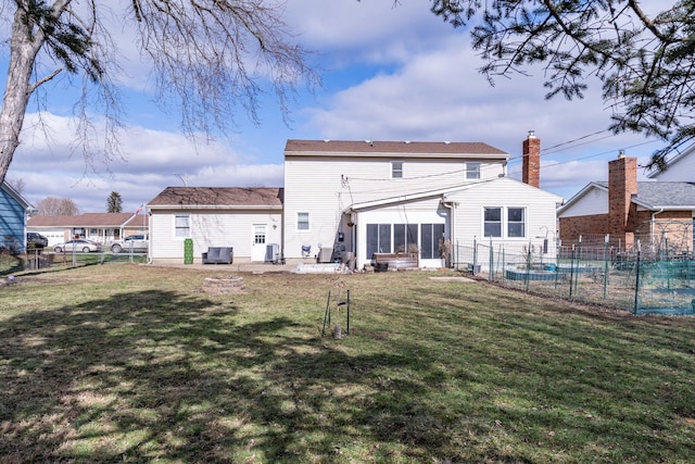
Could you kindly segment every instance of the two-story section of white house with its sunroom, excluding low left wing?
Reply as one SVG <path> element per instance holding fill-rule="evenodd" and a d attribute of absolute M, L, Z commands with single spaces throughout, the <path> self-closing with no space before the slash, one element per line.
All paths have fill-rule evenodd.
<path fill-rule="evenodd" d="M 445 240 L 542 246 L 563 199 L 506 178 L 508 158 L 479 142 L 288 140 L 285 255 L 348 252 L 362 267 L 413 244 L 420 267 L 441 267 Z"/>

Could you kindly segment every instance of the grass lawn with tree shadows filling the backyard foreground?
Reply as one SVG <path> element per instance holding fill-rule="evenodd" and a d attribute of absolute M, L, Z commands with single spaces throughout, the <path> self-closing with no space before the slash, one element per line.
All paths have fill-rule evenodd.
<path fill-rule="evenodd" d="M 0 287 L 0 463 L 693 462 L 695 318 L 444 272 L 237 275 L 243 294 L 135 264 Z M 321 337 L 346 289 L 350 336 Z"/>

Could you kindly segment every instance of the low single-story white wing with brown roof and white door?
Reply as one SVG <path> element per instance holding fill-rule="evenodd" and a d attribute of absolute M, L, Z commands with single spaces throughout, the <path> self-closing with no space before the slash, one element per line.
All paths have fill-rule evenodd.
<path fill-rule="evenodd" d="M 184 262 L 191 238 L 197 262 L 207 247 L 232 247 L 235 261 L 265 260 L 282 240 L 282 189 L 167 187 L 150 210 L 150 258 Z"/>

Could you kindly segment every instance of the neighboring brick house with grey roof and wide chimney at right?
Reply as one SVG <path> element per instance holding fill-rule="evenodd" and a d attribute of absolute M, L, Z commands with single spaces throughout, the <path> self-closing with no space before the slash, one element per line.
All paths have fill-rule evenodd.
<path fill-rule="evenodd" d="M 695 183 L 637 181 L 637 161 L 621 153 L 608 181 L 594 181 L 557 210 L 563 244 L 603 241 L 612 247 L 691 253 Z M 647 247 L 647 248 L 645 248 Z"/>

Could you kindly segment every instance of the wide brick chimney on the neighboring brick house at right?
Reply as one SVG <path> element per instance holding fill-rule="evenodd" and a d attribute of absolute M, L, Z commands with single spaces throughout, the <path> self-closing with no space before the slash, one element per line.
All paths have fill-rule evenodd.
<path fill-rule="evenodd" d="M 628 158 L 621 150 L 617 160 L 608 162 L 608 223 L 611 241 L 620 239 L 626 246 L 634 243 L 628 231 L 632 196 L 637 193 L 637 159 Z"/>

